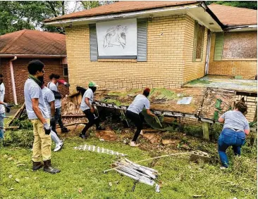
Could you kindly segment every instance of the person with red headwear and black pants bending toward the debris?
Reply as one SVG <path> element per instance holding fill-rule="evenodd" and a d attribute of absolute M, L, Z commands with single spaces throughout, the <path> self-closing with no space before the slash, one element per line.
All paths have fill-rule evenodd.
<path fill-rule="evenodd" d="M 135 97 L 133 103 L 131 103 L 126 110 L 125 114 L 126 117 L 128 117 L 137 127 L 137 130 L 135 131 L 135 136 L 133 137 L 133 140 L 130 142 L 130 146 L 138 146 L 135 141 L 137 140 L 137 137 L 140 135 L 140 132 L 142 131 L 142 120 L 143 115 L 141 114 L 143 108 L 147 109 L 147 114 L 155 117 L 155 115 L 149 110 L 149 96 L 150 89 L 146 88 L 143 91 L 143 94 L 139 94 Z"/>

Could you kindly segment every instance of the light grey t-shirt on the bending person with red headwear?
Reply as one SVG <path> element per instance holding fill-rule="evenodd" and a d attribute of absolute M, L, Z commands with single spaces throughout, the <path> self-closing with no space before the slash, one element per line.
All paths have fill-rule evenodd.
<path fill-rule="evenodd" d="M 135 97 L 133 103 L 129 105 L 127 110 L 139 114 L 142 112 L 143 108 L 149 109 L 149 100 L 146 96 L 139 94 Z"/>

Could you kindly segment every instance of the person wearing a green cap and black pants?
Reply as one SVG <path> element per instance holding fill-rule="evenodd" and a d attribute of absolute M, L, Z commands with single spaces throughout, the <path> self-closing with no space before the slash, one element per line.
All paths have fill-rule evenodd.
<path fill-rule="evenodd" d="M 97 130 L 102 130 L 103 128 L 99 124 L 99 117 L 94 115 L 94 107 L 92 106 L 94 92 L 97 90 L 97 84 L 95 82 L 89 83 L 89 89 L 85 91 L 85 94 L 82 96 L 82 103 L 80 103 L 80 109 L 85 113 L 89 122 L 86 124 L 82 132 L 80 133 L 80 137 L 82 139 L 87 139 L 90 136 L 89 133 L 86 134 L 87 130 L 92 127 L 92 125 L 96 124 Z"/>

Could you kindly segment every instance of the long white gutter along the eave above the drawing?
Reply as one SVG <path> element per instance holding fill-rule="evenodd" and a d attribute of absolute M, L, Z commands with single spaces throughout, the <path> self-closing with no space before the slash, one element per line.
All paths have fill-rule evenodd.
<path fill-rule="evenodd" d="M 192 6 L 173 6 L 171 8 L 157 8 L 157 9 L 151 9 L 151 10 L 145 10 L 145 11 L 134 11 L 130 13 L 118 13 L 113 15 L 98 15 L 95 17 L 82 17 L 82 18 L 74 18 L 74 19 L 67 19 L 67 20 L 59 20 L 59 21 L 53 21 L 53 22 L 44 22 L 46 25 L 61 25 L 66 23 L 74 23 L 74 22 L 81 22 L 81 21 L 88 21 L 89 23 L 93 21 L 102 21 L 102 20 L 117 20 L 121 18 L 133 18 L 137 15 L 151 15 L 153 13 L 164 13 L 166 11 L 187 11 L 189 8 L 198 8 L 199 4 L 192 5 Z"/>

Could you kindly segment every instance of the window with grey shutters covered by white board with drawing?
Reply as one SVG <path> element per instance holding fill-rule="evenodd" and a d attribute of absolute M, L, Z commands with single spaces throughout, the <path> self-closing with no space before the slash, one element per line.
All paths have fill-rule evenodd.
<path fill-rule="evenodd" d="M 147 61 L 147 19 L 90 25 L 90 60 L 99 59 Z"/>

